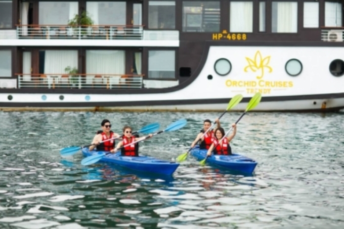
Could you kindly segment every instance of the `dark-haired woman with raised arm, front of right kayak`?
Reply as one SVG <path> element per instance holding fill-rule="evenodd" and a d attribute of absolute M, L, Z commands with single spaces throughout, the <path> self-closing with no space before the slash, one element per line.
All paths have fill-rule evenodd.
<path fill-rule="evenodd" d="M 232 124 L 233 127 L 233 132 L 223 138 L 223 136 L 225 135 L 224 130 L 222 127 L 217 128 L 215 130 L 215 138 L 213 141 L 213 144 L 210 146 L 207 156 L 212 155 L 212 152 L 214 152 L 215 155 L 230 155 L 232 154 L 232 150 L 230 148 L 229 142 L 234 138 L 235 134 L 236 134 L 236 124 Z M 223 138 L 223 140 L 219 143 L 219 141 Z M 218 144 L 219 143 L 219 144 Z M 216 146 L 216 148 L 215 148 Z"/>

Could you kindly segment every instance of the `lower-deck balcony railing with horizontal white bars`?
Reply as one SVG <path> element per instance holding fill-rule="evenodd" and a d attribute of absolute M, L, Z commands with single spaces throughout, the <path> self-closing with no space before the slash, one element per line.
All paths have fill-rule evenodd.
<path fill-rule="evenodd" d="M 121 89 L 142 88 L 144 75 L 123 74 L 16 74 L 18 88 Z"/>

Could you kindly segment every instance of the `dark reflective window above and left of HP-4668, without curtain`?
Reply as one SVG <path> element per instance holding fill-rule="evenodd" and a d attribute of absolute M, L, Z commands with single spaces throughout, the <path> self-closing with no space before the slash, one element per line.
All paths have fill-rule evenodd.
<path fill-rule="evenodd" d="M 220 32 L 220 2 L 183 1 L 183 32 Z"/>

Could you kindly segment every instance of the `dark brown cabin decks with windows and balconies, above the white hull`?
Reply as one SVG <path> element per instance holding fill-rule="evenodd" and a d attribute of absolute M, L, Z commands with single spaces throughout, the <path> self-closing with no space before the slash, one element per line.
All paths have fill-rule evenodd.
<path fill-rule="evenodd" d="M 343 3 L 0 0 L 0 88 L 31 93 L 180 88 L 198 76 L 212 45 L 343 46 Z M 337 62 L 334 74 L 343 75 L 344 63 Z"/>

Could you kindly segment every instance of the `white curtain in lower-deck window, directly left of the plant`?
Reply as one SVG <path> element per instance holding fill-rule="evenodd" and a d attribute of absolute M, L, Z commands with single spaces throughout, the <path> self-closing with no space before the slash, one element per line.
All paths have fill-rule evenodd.
<path fill-rule="evenodd" d="M 44 74 L 66 74 L 68 66 L 78 68 L 77 50 L 45 50 Z"/>

